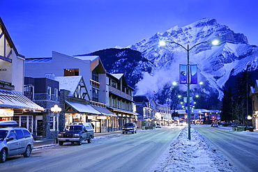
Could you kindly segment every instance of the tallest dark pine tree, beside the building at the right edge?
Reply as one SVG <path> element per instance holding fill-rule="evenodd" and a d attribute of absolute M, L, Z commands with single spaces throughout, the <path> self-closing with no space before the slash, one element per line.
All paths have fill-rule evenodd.
<path fill-rule="evenodd" d="M 248 66 L 249 68 L 249 66 Z M 240 123 L 245 123 L 245 117 L 252 114 L 252 100 L 249 96 L 252 79 L 248 68 L 236 77 L 234 95 L 234 118 Z"/>

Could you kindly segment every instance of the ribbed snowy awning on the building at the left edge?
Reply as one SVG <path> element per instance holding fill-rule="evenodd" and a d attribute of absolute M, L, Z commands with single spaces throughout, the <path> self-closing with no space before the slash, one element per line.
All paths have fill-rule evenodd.
<path fill-rule="evenodd" d="M 7 90 L 0 90 L 0 107 L 44 111 L 43 107 L 32 102 L 22 93 Z"/>

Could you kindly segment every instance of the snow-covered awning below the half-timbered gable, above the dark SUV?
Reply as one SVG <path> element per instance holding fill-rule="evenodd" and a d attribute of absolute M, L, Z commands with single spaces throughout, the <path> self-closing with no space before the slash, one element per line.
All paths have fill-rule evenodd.
<path fill-rule="evenodd" d="M 73 107 L 73 109 L 75 109 L 79 113 L 101 115 L 99 111 L 91 107 L 91 105 L 89 104 L 81 104 L 69 101 L 66 101 L 66 103 L 69 104 L 70 107 Z"/>

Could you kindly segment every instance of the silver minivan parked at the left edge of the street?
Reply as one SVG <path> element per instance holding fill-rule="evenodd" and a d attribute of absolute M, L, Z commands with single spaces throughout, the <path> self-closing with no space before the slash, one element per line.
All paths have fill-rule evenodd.
<path fill-rule="evenodd" d="M 6 157 L 12 155 L 29 157 L 32 149 L 33 137 L 26 128 L 0 128 L 0 163 L 6 162 Z"/>

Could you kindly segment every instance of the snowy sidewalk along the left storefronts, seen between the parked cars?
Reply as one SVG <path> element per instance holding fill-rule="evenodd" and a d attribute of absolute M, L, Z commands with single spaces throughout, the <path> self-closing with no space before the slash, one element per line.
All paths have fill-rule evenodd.
<path fill-rule="evenodd" d="M 116 131 L 116 132 L 101 132 L 101 133 L 95 133 L 94 132 L 94 138 L 99 136 L 107 136 L 112 134 L 121 134 L 122 131 Z M 39 149 L 39 148 L 47 148 L 51 146 L 56 146 L 58 143 L 54 143 L 54 139 L 41 139 L 34 141 L 34 148 L 33 149 Z"/>

